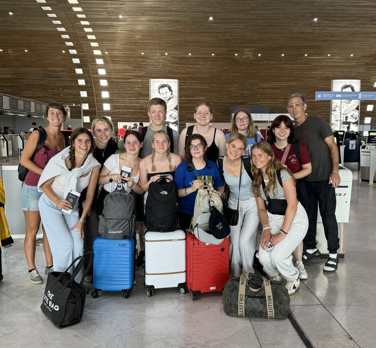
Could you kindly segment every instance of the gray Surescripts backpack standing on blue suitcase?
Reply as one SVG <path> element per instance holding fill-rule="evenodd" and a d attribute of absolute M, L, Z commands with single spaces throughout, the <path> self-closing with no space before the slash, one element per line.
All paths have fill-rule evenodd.
<path fill-rule="evenodd" d="M 98 232 L 109 239 L 126 239 L 135 234 L 135 199 L 131 194 L 121 189 L 112 191 L 105 197 Z"/>

